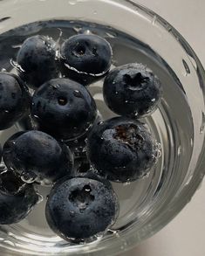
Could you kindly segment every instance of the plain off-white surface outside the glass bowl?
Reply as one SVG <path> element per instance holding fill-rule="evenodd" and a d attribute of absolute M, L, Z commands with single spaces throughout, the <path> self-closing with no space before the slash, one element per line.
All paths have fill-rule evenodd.
<path fill-rule="evenodd" d="M 138 0 L 174 25 L 205 66 L 205 0 Z M 205 166 L 204 166 L 205 168 Z M 205 181 L 191 202 L 151 239 L 121 256 L 205 256 Z"/>

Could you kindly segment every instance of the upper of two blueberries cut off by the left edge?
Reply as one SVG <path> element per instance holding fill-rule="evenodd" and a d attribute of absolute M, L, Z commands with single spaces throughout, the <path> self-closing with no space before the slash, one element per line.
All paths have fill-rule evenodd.
<path fill-rule="evenodd" d="M 0 130 L 10 128 L 28 112 L 31 98 L 16 75 L 0 73 Z"/>

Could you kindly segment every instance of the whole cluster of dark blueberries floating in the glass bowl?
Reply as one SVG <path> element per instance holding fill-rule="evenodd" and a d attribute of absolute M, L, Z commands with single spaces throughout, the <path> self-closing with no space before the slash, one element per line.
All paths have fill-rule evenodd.
<path fill-rule="evenodd" d="M 99 36 L 61 46 L 34 36 L 17 53 L 18 75 L 0 73 L 0 129 L 27 123 L 1 149 L 0 224 L 27 216 L 38 202 L 33 184 L 53 183 L 45 215 L 60 237 L 89 241 L 113 225 L 119 202 L 109 181 L 131 182 L 154 165 L 154 137 L 138 118 L 157 107 L 161 83 L 141 64 L 109 72 L 111 64 L 112 48 Z M 120 116 L 99 121 L 86 86 L 104 77 L 106 105 Z"/>

